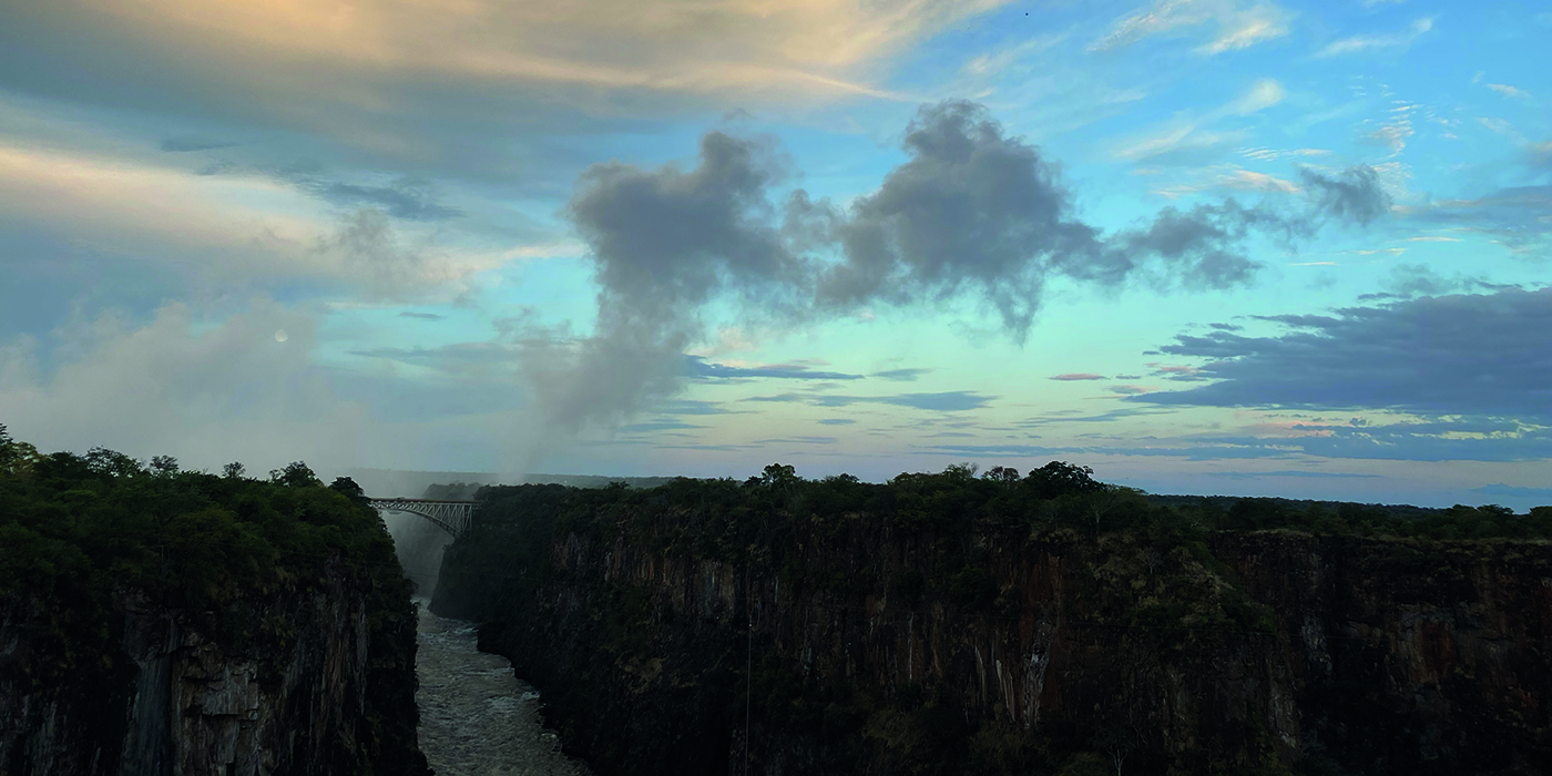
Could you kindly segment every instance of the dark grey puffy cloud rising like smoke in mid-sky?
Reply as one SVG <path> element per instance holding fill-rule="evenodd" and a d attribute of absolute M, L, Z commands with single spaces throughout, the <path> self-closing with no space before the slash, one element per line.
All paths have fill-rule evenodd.
<path fill-rule="evenodd" d="M 778 205 L 778 149 L 725 132 L 702 138 L 691 169 L 610 161 L 584 172 L 566 213 L 590 247 L 596 329 L 585 338 L 540 329 L 517 337 L 546 422 L 618 424 L 686 377 L 855 377 L 700 360 L 686 369 L 683 352 L 706 338 L 702 317 L 712 301 L 733 303 L 756 323 L 798 327 L 875 304 L 962 300 L 1023 341 L 1051 276 L 1107 287 L 1133 278 L 1181 289 L 1243 284 L 1256 270 L 1243 251 L 1251 233 L 1293 239 L 1332 217 L 1367 220 L 1358 200 L 1380 197 L 1364 188 L 1377 186 L 1375 175 L 1355 171 L 1321 178 L 1321 197 L 1302 214 L 1228 200 L 1166 208 L 1107 236 L 1077 217 L 1057 166 L 975 102 L 922 107 L 903 146 L 909 158 L 847 208 L 801 189 Z M 989 399 L 953 391 L 816 400 L 958 411 Z"/>

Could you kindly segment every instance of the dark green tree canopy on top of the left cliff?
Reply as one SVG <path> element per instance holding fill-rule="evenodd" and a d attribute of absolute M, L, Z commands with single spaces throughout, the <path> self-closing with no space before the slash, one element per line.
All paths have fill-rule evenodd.
<path fill-rule="evenodd" d="M 64 670 L 112 652 L 126 598 L 185 611 L 237 646 L 268 625 L 256 601 L 318 584 L 326 566 L 369 580 L 372 607 L 402 613 L 410 582 L 382 518 L 346 478 L 324 487 L 303 462 L 267 480 L 183 472 L 106 449 L 39 453 L 0 425 L 0 602 L 20 604 Z"/>

